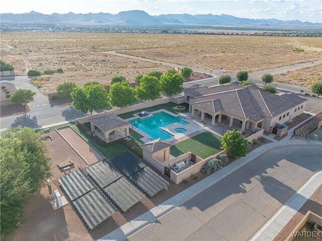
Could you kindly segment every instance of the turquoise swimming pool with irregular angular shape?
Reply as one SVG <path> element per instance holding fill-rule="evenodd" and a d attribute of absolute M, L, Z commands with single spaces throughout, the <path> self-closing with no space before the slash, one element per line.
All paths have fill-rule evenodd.
<path fill-rule="evenodd" d="M 129 121 L 133 126 L 140 129 L 141 131 L 145 132 L 149 136 L 153 138 L 153 140 L 157 138 L 161 139 L 169 139 L 173 137 L 172 134 L 170 134 L 167 131 L 164 131 L 161 129 L 161 127 L 173 124 L 173 123 L 180 123 L 182 125 L 188 124 L 188 122 L 185 121 L 182 117 L 175 117 L 173 115 L 169 115 L 166 112 L 158 112 L 153 114 L 150 117 L 144 118 L 144 119 L 134 119 Z"/>

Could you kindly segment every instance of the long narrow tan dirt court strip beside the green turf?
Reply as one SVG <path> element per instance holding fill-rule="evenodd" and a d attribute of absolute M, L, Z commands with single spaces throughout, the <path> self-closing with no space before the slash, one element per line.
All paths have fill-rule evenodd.
<path fill-rule="evenodd" d="M 93 146 L 87 143 L 78 133 L 70 126 L 57 130 L 63 138 L 78 152 L 89 165 L 103 160 L 105 157 L 101 155 Z"/>

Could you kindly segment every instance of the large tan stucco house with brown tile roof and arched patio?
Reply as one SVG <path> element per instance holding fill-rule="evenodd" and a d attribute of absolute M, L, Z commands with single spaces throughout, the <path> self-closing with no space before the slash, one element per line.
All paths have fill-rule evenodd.
<path fill-rule="evenodd" d="M 229 127 L 255 131 L 256 127 L 272 132 L 276 124 L 284 124 L 302 114 L 306 99 L 293 93 L 271 94 L 256 85 L 237 84 L 213 87 L 192 86 L 186 90 L 185 102 L 194 118 L 211 119 L 211 124 L 226 122 Z"/>

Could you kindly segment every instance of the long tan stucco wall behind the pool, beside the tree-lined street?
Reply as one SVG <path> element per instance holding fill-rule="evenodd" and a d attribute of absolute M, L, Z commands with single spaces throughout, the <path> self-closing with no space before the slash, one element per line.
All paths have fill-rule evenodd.
<path fill-rule="evenodd" d="M 77 120 L 79 122 L 81 122 L 81 123 L 86 123 L 86 122 L 89 122 L 89 118 L 100 117 L 100 116 L 109 115 L 109 114 L 120 115 L 120 114 L 124 114 L 124 113 L 127 113 L 127 112 L 136 111 L 136 110 L 139 110 L 139 109 L 144 109 L 144 108 L 148 108 L 148 107 L 152 107 L 152 106 L 156 106 L 156 105 L 160 105 L 160 104 L 166 104 L 166 103 L 169 103 L 169 102 L 171 102 L 170 97 L 165 98 L 165 99 L 159 99 L 159 100 L 156 100 L 156 101 L 144 102 L 144 103 L 129 106 L 129 107 L 126 107 L 126 108 L 119 108 L 119 109 L 116 109 L 116 110 L 103 112 L 103 113 L 99 113 L 99 114 L 92 115 L 92 116 L 86 116 L 86 117 L 79 118 Z"/>

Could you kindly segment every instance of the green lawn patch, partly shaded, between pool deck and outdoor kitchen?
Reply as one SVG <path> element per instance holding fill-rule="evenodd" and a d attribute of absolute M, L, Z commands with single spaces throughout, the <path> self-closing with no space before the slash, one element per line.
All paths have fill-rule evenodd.
<path fill-rule="evenodd" d="M 207 131 L 171 146 L 170 154 L 177 157 L 190 151 L 204 159 L 220 152 L 220 146 L 221 137 Z"/>

